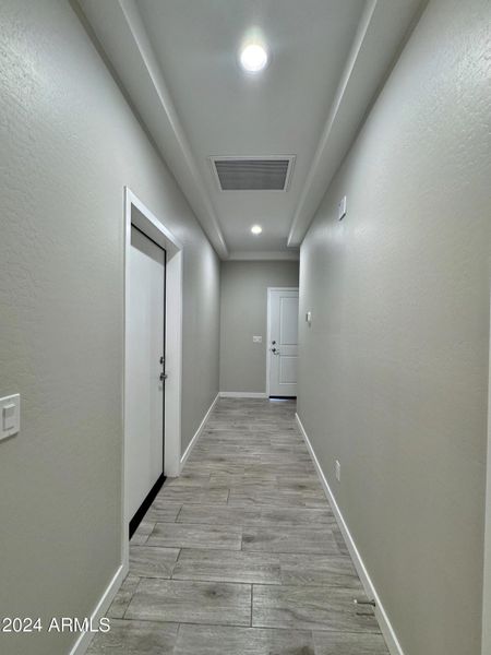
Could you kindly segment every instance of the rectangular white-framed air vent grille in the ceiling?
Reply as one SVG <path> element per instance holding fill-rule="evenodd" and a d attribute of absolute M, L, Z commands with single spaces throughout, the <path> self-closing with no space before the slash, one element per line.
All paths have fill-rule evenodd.
<path fill-rule="evenodd" d="M 211 157 L 220 191 L 286 191 L 295 155 Z"/>

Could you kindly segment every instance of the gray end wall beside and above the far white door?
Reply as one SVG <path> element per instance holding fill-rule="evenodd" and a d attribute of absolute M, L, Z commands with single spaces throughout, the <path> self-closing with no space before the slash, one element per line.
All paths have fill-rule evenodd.
<path fill-rule="evenodd" d="M 221 262 L 220 391 L 266 391 L 268 286 L 297 287 L 298 262 Z"/>

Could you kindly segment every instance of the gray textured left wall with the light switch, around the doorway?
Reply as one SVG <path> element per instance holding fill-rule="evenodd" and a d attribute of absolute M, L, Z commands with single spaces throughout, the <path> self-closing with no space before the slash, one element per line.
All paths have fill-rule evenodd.
<path fill-rule="evenodd" d="M 0 116 L 0 616 L 85 617 L 120 563 L 124 184 L 184 243 L 183 448 L 218 390 L 219 262 L 69 2 L 1 2 Z"/>

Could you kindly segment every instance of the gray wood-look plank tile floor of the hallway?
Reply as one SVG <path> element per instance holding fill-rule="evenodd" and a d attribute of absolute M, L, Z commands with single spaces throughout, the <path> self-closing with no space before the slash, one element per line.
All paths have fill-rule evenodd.
<path fill-rule="evenodd" d="M 130 545 L 89 655 L 387 655 L 295 422 L 221 398 Z"/>

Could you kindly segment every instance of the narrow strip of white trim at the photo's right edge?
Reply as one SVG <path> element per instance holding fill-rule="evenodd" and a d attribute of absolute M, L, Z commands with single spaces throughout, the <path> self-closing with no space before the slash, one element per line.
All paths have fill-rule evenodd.
<path fill-rule="evenodd" d="M 491 287 L 491 281 L 490 281 Z M 490 299 L 491 307 L 491 299 Z M 486 533 L 482 590 L 482 655 L 491 653 L 491 317 L 488 382 L 488 466 L 486 479 Z"/>

